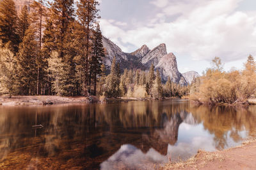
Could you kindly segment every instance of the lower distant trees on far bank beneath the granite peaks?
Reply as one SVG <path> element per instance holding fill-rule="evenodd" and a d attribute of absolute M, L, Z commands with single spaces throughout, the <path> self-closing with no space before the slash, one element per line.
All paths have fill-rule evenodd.
<path fill-rule="evenodd" d="M 104 76 L 101 77 L 105 79 Z M 120 73 L 120 66 L 114 57 L 111 73 L 106 76 L 106 81 L 100 80 L 100 94 L 107 97 L 153 97 L 162 99 L 163 97 L 181 97 L 189 94 L 189 87 L 182 87 L 173 83 L 168 77 L 166 83 L 162 83 L 159 71 L 154 71 L 154 65 L 149 71 L 140 69 L 128 70 Z"/>

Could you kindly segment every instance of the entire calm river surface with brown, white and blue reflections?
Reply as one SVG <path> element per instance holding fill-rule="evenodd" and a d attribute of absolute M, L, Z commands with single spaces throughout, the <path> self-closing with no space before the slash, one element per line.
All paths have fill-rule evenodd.
<path fill-rule="evenodd" d="M 256 106 L 181 100 L 0 106 L 0 169 L 154 169 L 239 145 L 255 120 Z"/>

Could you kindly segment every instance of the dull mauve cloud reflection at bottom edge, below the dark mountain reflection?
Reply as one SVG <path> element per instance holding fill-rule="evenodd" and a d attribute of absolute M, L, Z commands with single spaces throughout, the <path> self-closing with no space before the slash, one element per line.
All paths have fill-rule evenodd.
<path fill-rule="evenodd" d="M 154 164 L 168 162 L 168 157 L 161 155 L 153 148 L 147 153 L 133 145 L 122 145 L 108 160 L 100 164 L 100 169 L 116 169 L 125 167 L 125 169 L 154 169 Z"/>

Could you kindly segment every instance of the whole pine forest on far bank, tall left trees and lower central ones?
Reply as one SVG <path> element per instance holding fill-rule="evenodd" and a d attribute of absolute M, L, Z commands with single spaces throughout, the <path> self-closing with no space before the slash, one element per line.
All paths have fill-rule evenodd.
<path fill-rule="evenodd" d="M 75 8 L 76 6 L 76 8 Z M 98 1 L 43 0 L 23 6 L 0 2 L 0 94 L 12 96 L 171 97 L 188 87 L 163 84 L 150 71 L 121 73 L 113 59 L 106 75 Z M 115 57 L 115 56 L 113 56 Z"/>

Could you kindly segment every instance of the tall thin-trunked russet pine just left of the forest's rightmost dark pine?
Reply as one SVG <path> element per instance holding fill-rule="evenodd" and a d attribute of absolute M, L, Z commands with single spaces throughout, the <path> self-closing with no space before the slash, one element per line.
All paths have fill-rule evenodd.
<path fill-rule="evenodd" d="M 80 0 L 77 3 L 77 18 L 81 24 L 81 60 L 83 66 L 83 94 L 86 94 L 86 85 L 89 82 L 88 71 L 89 71 L 89 57 L 92 55 L 92 43 L 90 41 L 90 36 L 92 35 L 92 30 L 94 24 L 99 18 L 99 10 L 97 10 L 98 1 L 95 0 Z"/>

